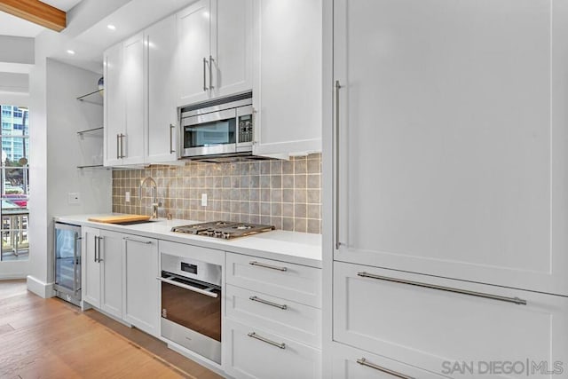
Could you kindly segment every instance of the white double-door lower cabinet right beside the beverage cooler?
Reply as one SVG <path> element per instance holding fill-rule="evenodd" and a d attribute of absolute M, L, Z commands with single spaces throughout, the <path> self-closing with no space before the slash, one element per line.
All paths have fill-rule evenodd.
<path fill-rule="evenodd" d="M 83 228 L 83 301 L 122 318 L 122 235 Z"/>

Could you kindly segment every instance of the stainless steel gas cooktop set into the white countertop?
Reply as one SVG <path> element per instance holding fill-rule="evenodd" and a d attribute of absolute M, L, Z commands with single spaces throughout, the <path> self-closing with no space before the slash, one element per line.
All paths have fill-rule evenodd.
<path fill-rule="evenodd" d="M 256 225 L 229 221 L 212 221 L 209 223 L 174 226 L 172 232 L 205 235 L 208 237 L 231 240 L 256 233 L 270 232 L 276 229 L 272 225 Z"/>

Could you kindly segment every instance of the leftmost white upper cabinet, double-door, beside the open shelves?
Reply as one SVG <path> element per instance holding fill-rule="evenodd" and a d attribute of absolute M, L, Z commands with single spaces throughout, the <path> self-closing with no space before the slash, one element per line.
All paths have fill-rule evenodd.
<path fill-rule="evenodd" d="M 144 39 L 114 45 L 105 61 L 105 165 L 144 162 Z"/>

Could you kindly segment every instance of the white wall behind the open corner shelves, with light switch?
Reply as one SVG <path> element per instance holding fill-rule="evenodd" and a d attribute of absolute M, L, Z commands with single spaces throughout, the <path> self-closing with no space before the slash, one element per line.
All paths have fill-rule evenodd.
<path fill-rule="evenodd" d="M 76 98 L 97 89 L 100 75 L 51 59 L 30 73 L 30 262 L 28 289 L 51 296 L 52 217 L 110 212 L 111 171 L 77 169 L 91 156 L 76 131 L 102 126 L 102 107 Z M 96 141 L 88 141 L 95 143 Z M 70 205 L 67 193 L 81 193 Z"/>

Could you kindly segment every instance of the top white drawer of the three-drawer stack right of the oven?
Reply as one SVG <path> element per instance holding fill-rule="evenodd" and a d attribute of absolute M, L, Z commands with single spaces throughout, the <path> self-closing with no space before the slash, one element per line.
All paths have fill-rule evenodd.
<path fill-rule="evenodd" d="M 321 307 L 321 270 L 317 268 L 227 253 L 226 280 L 242 288 Z"/>

